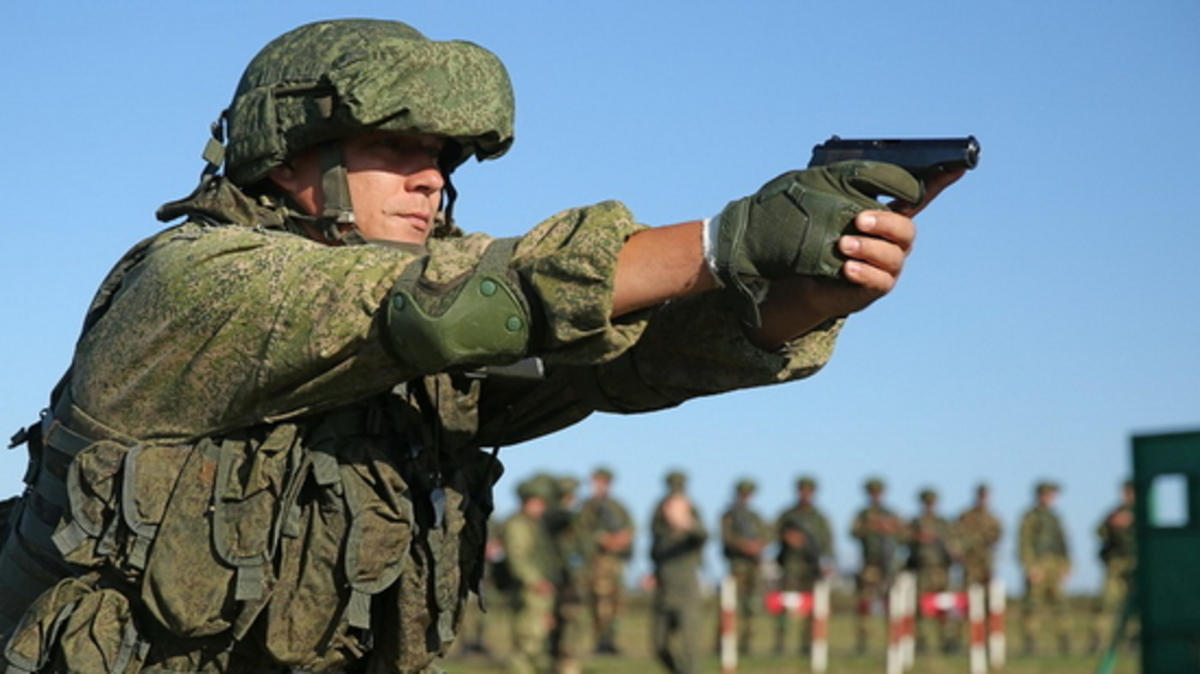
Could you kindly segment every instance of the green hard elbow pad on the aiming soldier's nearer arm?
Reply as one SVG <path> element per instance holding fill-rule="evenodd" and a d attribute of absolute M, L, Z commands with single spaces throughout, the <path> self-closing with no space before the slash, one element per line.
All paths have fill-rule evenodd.
<path fill-rule="evenodd" d="M 428 258 L 409 265 L 388 294 L 384 332 L 421 374 L 511 365 L 529 348 L 530 312 L 509 269 L 517 239 L 497 239 L 479 265 L 449 283 L 422 279 Z"/>

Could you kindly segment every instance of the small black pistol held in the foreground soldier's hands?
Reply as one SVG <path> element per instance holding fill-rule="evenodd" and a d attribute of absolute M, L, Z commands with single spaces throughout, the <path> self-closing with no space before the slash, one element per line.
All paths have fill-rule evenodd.
<path fill-rule="evenodd" d="M 920 181 L 943 171 L 979 164 L 979 142 L 966 138 L 888 138 L 850 140 L 836 136 L 812 148 L 809 167 L 868 160 L 895 164 Z"/>

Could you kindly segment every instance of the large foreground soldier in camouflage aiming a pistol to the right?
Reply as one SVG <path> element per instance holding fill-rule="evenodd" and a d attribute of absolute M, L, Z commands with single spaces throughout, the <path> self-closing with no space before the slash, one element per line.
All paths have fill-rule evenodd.
<path fill-rule="evenodd" d="M 466 235 L 451 173 L 502 156 L 512 119 L 492 53 L 398 22 L 318 22 L 254 56 L 200 185 L 158 211 L 180 222 L 113 267 L 17 437 L 8 664 L 432 667 L 482 577 L 484 447 L 812 374 L 892 290 L 928 203 L 851 162 L 707 221 L 605 201 Z M 542 378 L 481 369 L 527 357 Z"/>

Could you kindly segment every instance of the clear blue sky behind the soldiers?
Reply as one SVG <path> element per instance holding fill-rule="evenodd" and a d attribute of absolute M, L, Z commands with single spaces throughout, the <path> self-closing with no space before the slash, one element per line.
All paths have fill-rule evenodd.
<path fill-rule="evenodd" d="M 504 450 L 502 514 L 539 469 L 613 468 L 642 522 L 672 468 L 709 522 L 738 477 L 774 516 L 812 474 L 848 565 L 868 476 L 906 514 L 922 487 L 956 512 L 986 480 L 1009 534 L 1051 479 L 1072 586 L 1091 590 L 1130 437 L 1200 427 L 1194 1 L 50 0 L 0 22 L 0 431 L 36 419 L 104 272 L 194 186 L 246 61 L 347 16 L 508 65 L 516 145 L 456 174 L 472 230 L 514 235 L 604 199 L 649 224 L 709 216 L 834 133 L 983 144 L 978 170 L 918 218 L 900 288 L 850 320 L 823 372 Z M 0 494 L 23 470 L 0 452 Z"/>

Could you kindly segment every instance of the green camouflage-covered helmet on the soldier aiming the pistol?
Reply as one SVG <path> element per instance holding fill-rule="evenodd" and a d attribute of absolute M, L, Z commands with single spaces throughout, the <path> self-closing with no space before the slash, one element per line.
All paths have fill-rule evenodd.
<path fill-rule="evenodd" d="M 449 174 L 509 149 L 514 107 L 508 72 L 482 47 L 391 20 L 311 23 L 246 67 L 224 113 L 224 171 L 252 185 L 300 150 L 379 130 L 445 137 Z"/>

